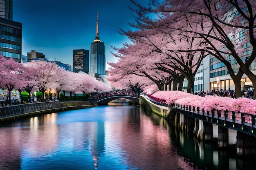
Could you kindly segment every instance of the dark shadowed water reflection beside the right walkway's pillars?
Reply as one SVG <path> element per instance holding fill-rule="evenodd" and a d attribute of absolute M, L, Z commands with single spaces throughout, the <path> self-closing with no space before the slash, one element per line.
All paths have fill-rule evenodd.
<path fill-rule="evenodd" d="M 154 124 L 164 126 L 171 136 L 171 143 L 178 154 L 180 168 L 184 170 L 254 170 L 254 157 L 237 158 L 236 148 L 219 149 L 216 142 L 204 143 L 184 131 L 170 128 L 168 122 L 154 113 L 148 115 Z"/>

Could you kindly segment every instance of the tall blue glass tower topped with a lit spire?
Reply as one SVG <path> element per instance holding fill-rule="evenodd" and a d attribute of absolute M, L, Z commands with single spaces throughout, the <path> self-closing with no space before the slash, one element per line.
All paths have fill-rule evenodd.
<path fill-rule="evenodd" d="M 98 11 L 96 37 L 91 43 L 91 73 L 95 73 L 95 77 L 104 77 L 103 75 L 106 75 L 105 44 L 99 39 Z"/>

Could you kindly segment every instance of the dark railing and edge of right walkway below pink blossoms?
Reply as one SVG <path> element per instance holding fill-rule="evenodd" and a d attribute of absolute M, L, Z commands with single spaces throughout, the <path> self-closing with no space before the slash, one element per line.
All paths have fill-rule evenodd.
<path fill-rule="evenodd" d="M 204 108 L 180 104 L 173 104 L 172 111 L 256 136 L 256 115 L 229 110 L 205 111 Z"/>

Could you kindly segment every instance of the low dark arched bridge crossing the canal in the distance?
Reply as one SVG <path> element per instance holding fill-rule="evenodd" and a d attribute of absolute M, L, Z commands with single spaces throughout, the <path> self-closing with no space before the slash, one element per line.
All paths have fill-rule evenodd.
<path fill-rule="evenodd" d="M 135 102 L 135 104 L 139 104 L 139 97 L 131 96 L 131 95 L 112 95 L 112 96 L 106 96 L 99 99 L 92 99 L 90 102 L 92 104 L 98 104 L 98 105 L 107 105 L 108 102 L 111 102 L 115 99 L 129 99 Z"/>

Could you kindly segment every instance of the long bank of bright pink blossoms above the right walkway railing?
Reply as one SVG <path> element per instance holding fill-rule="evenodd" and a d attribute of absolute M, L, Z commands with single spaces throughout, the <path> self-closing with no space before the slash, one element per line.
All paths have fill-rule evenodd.
<path fill-rule="evenodd" d="M 180 104 L 183 106 L 204 108 L 205 111 L 228 110 L 240 113 L 256 115 L 256 100 L 240 97 L 232 99 L 230 97 L 218 97 L 207 95 L 201 97 L 184 93 L 182 91 L 157 91 L 149 96 L 164 104 Z"/>

